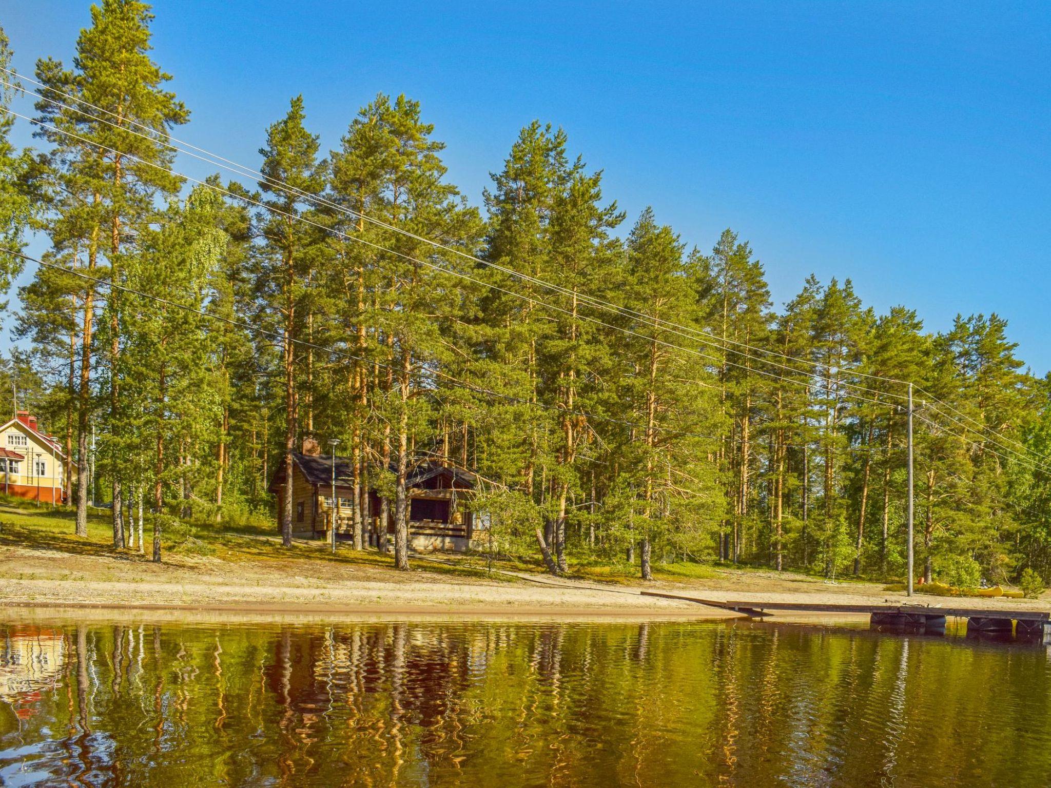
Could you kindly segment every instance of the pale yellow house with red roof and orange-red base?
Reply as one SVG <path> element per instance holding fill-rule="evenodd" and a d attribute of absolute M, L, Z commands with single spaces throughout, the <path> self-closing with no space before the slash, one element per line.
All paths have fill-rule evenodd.
<path fill-rule="evenodd" d="M 42 432 L 28 411 L 19 411 L 0 427 L 0 483 L 5 494 L 62 503 L 64 465 L 58 440 Z"/>

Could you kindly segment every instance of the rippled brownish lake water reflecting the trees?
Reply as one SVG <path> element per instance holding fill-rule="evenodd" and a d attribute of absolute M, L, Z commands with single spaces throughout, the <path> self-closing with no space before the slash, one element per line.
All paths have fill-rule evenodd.
<path fill-rule="evenodd" d="M 951 630 L 0 617 L 6 786 L 1051 783 L 1048 649 Z"/>

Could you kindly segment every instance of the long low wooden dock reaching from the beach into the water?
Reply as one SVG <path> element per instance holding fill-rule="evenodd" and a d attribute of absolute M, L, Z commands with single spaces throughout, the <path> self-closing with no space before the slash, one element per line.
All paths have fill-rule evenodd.
<path fill-rule="evenodd" d="M 702 605 L 720 607 L 724 610 L 740 613 L 749 618 L 765 618 L 775 613 L 829 613 L 829 614 L 864 614 L 869 616 L 873 627 L 887 629 L 912 629 L 922 631 L 945 630 L 947 618 L 967 620 L 968 634 L 1009 635 L 1040 639 L 1045 633 L 1051 635 L 1051 613 L 1043 610 L 1019 610 L 1009 608 L 987 607 L 932 607 L 914 603 L 894 604 L 852 604 L 846 603 L 809 603 L 809 602 L 765 602 L 759 600 L 700 599 L 683 594 L 665 594 L 663 592 L 642 592 L 647 597 L 663 597 Z"/>

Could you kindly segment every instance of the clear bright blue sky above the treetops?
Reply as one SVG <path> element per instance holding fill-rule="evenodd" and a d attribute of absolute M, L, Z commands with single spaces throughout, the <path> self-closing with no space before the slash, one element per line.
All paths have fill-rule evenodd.
<path fill-rule="evenodd" d="M 16 65 L 68 62 L 87 0 L 0 0 Z M 423 103 L 480 204 L 518 129 L 565 128 L 605 194 L 709 249 L 751 242 L 778 304 L 810 272 L 942 330 L 995 311 L 1051 369 L 1051 4 L 158 0 L 178 134 L 257 166 L 302 92 L 335 147 L 376 92 Z M 190 162 L 181 166 L 199 173 Z"/>

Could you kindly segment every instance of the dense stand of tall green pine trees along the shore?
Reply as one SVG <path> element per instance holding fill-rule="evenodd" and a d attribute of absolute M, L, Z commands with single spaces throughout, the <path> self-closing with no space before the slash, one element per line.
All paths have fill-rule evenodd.
<path fill-rule="evenodd" d="M 0 38 L 3 107 L 36 120 L 21 150 L 0 118 L 0 285 L 47 242 L 5 326 L 32 350 L 0 375 L 80 460 L 78 533 L 91 453 L 118 547 L 142 512 L 154 560 L 180 515 L 265 514 L 290 543 L 291 499 L 276 511 L 267 486 L 313 435 L 341 440 L 359 500 L 379 491 L 403 568 L 406 477 L 440 459 L 485 479 L 499 549 L 552 573 L 901 578 L 910 381 L 918 575 L 1051 575 L 1051 377 L 1001 316 L 933 333 L 813 277 L 776 305 L 738 233 L 694 247 L 652 209 L 626 216 L 539 122 L 471 205 L 404 96 L 333 150 L 292 98 L 257 129 L 259 172 L 190 181 L 150 20 L 102 0 L 73 62 L 32 77 Z"/>

